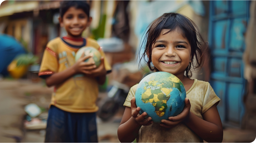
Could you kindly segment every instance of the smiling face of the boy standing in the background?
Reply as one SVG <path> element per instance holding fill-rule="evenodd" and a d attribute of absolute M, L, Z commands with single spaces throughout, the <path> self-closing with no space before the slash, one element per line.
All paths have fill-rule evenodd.
<path fill-rule="evenodd" d="M 82 9 L 70 7 L 63 15 L 59 17 L 61 27 L 64 27 L 71 37 L 81 37 L 82 32 L 87 26 L 90 26 L 92 21 Z"/>

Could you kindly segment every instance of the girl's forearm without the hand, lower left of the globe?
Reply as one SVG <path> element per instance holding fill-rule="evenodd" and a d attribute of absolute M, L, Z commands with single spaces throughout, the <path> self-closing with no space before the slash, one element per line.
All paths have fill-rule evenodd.
<path fill-rule="evenodd" d="M 122 142 L 133 142 L 138 136 L 141 125 L 131 117 L 127 122 L 121 124 L 118 127 L 117 135 L 119 141 Z"/>

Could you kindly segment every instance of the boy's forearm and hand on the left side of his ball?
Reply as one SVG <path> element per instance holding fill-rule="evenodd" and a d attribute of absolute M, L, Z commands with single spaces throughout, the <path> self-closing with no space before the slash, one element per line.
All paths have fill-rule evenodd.
<path fill-rule="evenodd" d="M 84 55 L 84 54 L 82 54 Z M 72 77 L 74 74 L 77 73 L 85 73 L 87 70 L 92 70 L 95 68 L 94 63 L 88 63 L 84 62 L 86 59 L 91 58 L 92 56 L 81 56 L 80 59 L 77 60 L 77 62 L 69 67 L 68 69 L 62 71 L 62 72 L 57 72 L 53 73 L 50 77 L 46 78 L 46 85 L 48 87 L 53 86 L 53 85 L 58 85 L 63 82 L 65 82 L 67 79 Z"/>

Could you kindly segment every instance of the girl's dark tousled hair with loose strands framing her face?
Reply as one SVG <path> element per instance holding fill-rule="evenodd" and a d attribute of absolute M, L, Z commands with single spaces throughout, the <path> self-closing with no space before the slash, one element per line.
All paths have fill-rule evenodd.
<path fill-rule="evenodd" d="M 151 56 L 152 46 L 155 44 L 157 37 L 163 29 L 170 29 L 168 32 L 163 33 L 163 35 L 176 29 L 180 30 L 183 37 L 186 37 L 187 40 L 190 42 L 192 58 L 191 63 L 188 64 L 185 70 L 186 77 L 190 78 L 192 76 L 192 73 L 190 71 L 191 65 L 193 65 L 193 68 L 196 69 L 203 64 L 203 49 L 206 49 L 208 43 L 204 42 L 196 24 L 194 24 L 191 19 L 179 13 L 164 13 L 161 17 L 157 18 L 149 25 L 144 38 L 141 39 L 140 51 L 143 50 L 144 47 L 145 50 L 142 54 L 142 57 L 140 58 L 140 62 L 141 59 L 144 58 L 151 71 L 159 71 L 158 69 L 156 69 L 156 67 L 151 66 Z M 200 40 L 200 42 L 198 41 L 198 39 Z M 146 56 L 148 57 L 148 59 L 146 59 Z M 193 57 L 195 57 L 196 63 L 193 62 Z"/>

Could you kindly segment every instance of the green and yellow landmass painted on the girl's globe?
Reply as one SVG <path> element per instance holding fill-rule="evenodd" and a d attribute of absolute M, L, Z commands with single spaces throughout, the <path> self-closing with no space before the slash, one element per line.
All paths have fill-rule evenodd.
<path fill-rule="evenodd" d="M 154 80 L 155 77 L 151 77 L 150 79 L 149 82 L 145 82 L 141 100 L 144 103 L 152 103 L 155 107 L 157 116 L 162 117 L 167 109 L 167 101 L 170 98 L 170 92 L 173 90 L 172 88 L 175 87 L 181 92 L 180 85 L 183 84 L 180 82 L 179 78 L 174 75 L 169 76 L 169 78 L 163 77 L 163 79 L 161 79 L 163 83 Z M 170 81 L 171 84 L 164 84 L 165 82 L 170 83 Z"/>

